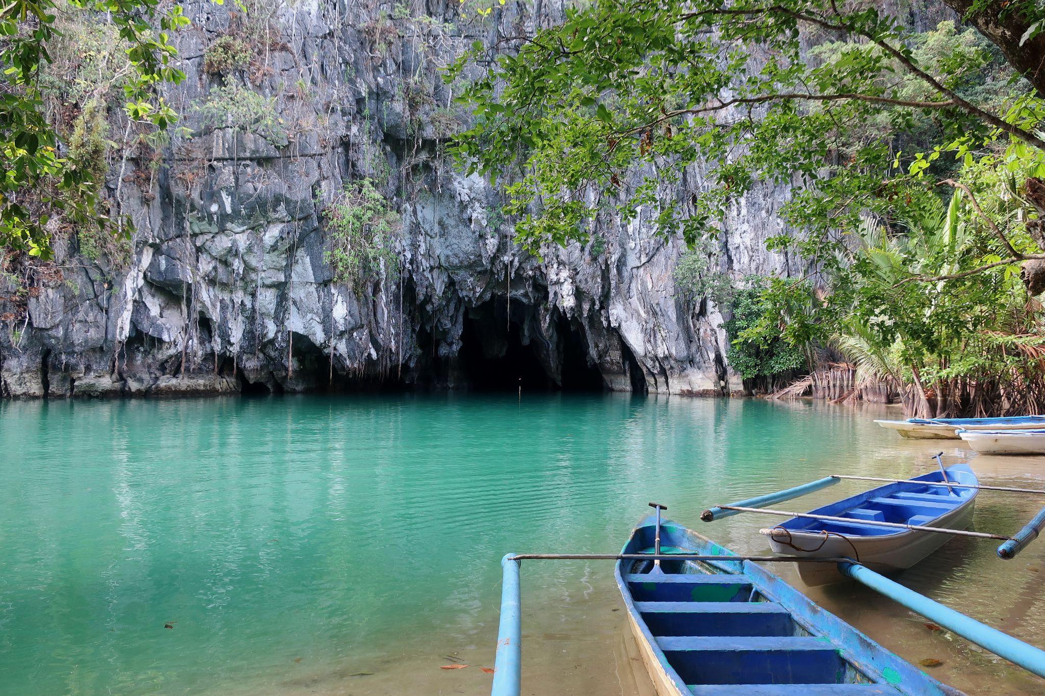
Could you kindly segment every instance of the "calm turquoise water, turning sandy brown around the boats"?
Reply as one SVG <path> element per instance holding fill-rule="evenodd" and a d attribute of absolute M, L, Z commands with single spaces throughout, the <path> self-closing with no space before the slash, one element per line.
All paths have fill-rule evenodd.
<path fill-rule="evenodd" d="M 621 394 L 0 402 L 0 693 L 487 693 L 504 553 L 616 551 L 649 501 L 696 527 L 713 503 L 963 457 L 872 417 Z M 973 463 L 1045 487 L 1034 459 Z M 1040 502 L 983 494 L 976 527 Z M 697 528 L 761 552 L 770 520 Z M 1045 645 L 1042 549 L 1004 563 L 955 539 L 902 580 Z M 642 693 L 611 574 L 525 563 L 531 693 Z M 858 587 L 810 594 L 970 693 L 1045 693 Z"/>

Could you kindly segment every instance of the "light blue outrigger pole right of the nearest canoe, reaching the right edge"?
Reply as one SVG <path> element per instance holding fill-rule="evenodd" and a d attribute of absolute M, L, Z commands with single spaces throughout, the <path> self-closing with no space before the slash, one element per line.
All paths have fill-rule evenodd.
<path fill-rule="evenodd" d="M 1045 676 L 1045 650 L 1015 639 L 1008 633 L 1002 633 L 997 628 L 955 611 L 858 563 L 838 563 L 838 570 L 842 575 L 880 592 L 967 641 L 972 641 L 1038 676 Z"/>

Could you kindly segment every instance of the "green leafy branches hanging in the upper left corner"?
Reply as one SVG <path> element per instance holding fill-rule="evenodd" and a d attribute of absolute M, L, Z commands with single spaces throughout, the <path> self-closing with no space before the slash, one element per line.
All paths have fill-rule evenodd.
<path fill-rule="evenodd" d="M 70 0 L 80 10 L 103 15 L 125 44 L 133 68 L 122 82 L 124 111 L 134 121 L 165 128 L 173 110 L 156 94 L 157 85 L 185 75 L 172 66 L 169 31 L 188 24 L 180 5 L 159 0 Z M 95 209 L 100 185 L 96 160 L 79 162 L 63 152 L 61 134 L 48 120 L 44 99 L 50 48 L 60 38 L 57 0 L 13 0 L 0 8 L 0 243 L 46 258 L 49 211 L 73 224 L 104 223 Z M 87 102 L 80 104 L 86 106 Z"/>

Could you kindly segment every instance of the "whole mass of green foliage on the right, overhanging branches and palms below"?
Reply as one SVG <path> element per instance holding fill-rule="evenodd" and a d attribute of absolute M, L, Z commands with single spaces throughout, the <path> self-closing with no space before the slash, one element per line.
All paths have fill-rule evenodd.
<path fill-rule="evenodd" d="M 807 271 L 742 287 L 741 371 L 786 367 L 741 349 L 849 336 L 899 366 L 914 408 L 940 393 L 937 411 L 1012 408 L 999 394 L 1040 392 L 1045 375 L 1018 366 L 1037 364 L 1028 288 L 1045 288 L 1030 279 L 1045 208 L 1028 203 L 1045 192 L 1045 71 L 1041 51 L 1018 54 L 1045 40 L 1045 11 L 947 4 L 958 22 L 920 33 L 856 0 L 596 0 L 506 38 L 508 55 L 477 45 L 458 63 L 482 74 L 457 152 L 504 186 L 535 253 L 585 239 L 599 216 L 652 217 L 689 242 L 676 283 L 691 294 L 738 196 L 790 185 L 791 232 L 768 247 Z"/>

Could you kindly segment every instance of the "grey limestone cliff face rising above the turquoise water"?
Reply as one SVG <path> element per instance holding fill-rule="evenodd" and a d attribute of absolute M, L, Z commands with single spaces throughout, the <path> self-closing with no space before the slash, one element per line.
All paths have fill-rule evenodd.
<path fill-rule="evenodd" d="M 0 278 L 0 392 L 495 379 L 741 389 L 724 357 L 720 310 L 676 292 L 684 245 L 656 236 L 652 215 L 600 220 L 589 243 L 536 259 L 512 243 L 501 194 L 452 169 L 445 140 L 467 117 L 451 101 L 460 86 L 444 85 L 438 68 L 472 41 L 532 31 L 534 15 L 549 23 L 562 11 L 541 0 L 532 14 L 492 4 L 490 16 L 470 21 L 445 0 L 409 9 L 258 0 L 246 14 L 234 3 L 188 4 L 192 27 L 177 35 L 188 78 L 167 97 L 193 134 L 166 145 L 159 167 L 142 148 L 114 158 L 113 213 L 135 230 L 125 263 L 90 261 L 60 238 L 53 264 Z M 225 34 L 245 37 L 253 58 L 209 74 L 207 47 Z M 238 90 L 234 105 L 253 110 L 247 121 L 231 111 L 215 119 L 213 90 L 223 86 Z M 111 117 L 111 134 L 123 133 L 118 107 Z M 362 282 L 339 283 L 325 256 L 323 208 L 363 178 L 400 215 L 394 258 Z M 691 190 L 704 185 L 696 170 L 683 181 Z M 805 270 L 764 246 L 787 232 L 776 212 L 789 191 L 766 186 L 735 201 L 721 239 L 724 270 Z"/>

